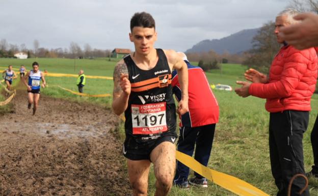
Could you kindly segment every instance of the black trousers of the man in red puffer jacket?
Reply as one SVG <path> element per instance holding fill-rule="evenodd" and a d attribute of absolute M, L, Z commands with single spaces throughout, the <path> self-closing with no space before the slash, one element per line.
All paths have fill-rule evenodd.
<path fill-rule="evenodd" d="M 296 174 L 305 175 L 303 133 L 309 121 L 308 111 L 285 110 L 270 114 L 269 143 L 272 174 L 278 188 L 277 196 L 286 196 L 290 179 Z M 296 178 L 291 196 L 305 187 L 305 179 Z M 309 195 L 308 188 L 301 194 Z"/>

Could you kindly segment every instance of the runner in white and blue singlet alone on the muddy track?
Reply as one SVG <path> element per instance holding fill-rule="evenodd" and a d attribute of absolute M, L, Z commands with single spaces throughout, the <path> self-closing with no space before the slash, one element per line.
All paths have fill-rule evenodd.
<path fill-rule="evenodd" d="M 37 62 L 33 62 L 32 70 L 26 73 L 25 77 L 22 78 L 23 83 L 28 88 L 28 98 L 29 104 L 28 108 L 31 108 L 33 103 L 33 115 L 38 107 L 39 99 L 40 99 L 40 80 L 42 79 L 42 87 L 45 88 L 46 82 L 44 78 L 44 74 L 39 70 L 39 64 Z M 29 78 L 29 82 L 26 83 L 26 77 Z"/>

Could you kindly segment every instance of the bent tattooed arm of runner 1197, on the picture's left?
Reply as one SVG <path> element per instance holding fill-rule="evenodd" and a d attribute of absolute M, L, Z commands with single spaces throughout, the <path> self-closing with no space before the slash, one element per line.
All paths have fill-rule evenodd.
<path fill-rule="evenodd" d="M 124 60 L 118 62 L 113 74 L 114 90 L 113 90 L 113 110 L 116 115 L 121 115 L 128 106 L 130 95 L 130 81 L 128 79 L 128 69 Z"/>

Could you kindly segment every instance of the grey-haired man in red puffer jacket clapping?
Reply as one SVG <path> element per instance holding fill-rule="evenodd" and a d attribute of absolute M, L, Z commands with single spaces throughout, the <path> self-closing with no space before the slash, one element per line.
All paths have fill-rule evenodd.
<path fill-rule="evenodd" d="M 235 89 L 242 97 L 252 95 L 267 99 L 270 159 L 278 196 L 287 195 L 288 183 L 295 174 L 305 175 L 302 138 L 308 126 L 310 98 L 317 78 L 315 49 L 297 50 L 278 34 L 281 27 L 296 22 L 293 16 L 297 14 L 296 10 L 287 9 L 276 17 L 277 42 L 284 45 L 271 65 L 269 78 L 249 69 L 245 78 L 253 83 L 237 81 L 242 87 Z M 304 186 L 303 178 L 294 180 L 291 195 L 300 195 Z M 301 195 L 309 195 L 308 188 Z"/>

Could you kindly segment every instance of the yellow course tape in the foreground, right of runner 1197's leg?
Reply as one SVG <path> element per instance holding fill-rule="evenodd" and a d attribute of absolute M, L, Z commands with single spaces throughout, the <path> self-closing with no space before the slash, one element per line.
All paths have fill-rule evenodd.
<path fill-rule="evenodd" d="M 193 171 L 204 176 L 219 186 L 240 196 L 270 196 L 251 184 L 233 176 L 211 170 L 200 164 L 194 158 L 179 151 L 176 151 L 176 159 L 184 165 L 190 167 Z"/>

